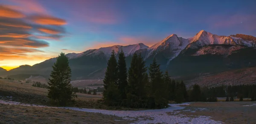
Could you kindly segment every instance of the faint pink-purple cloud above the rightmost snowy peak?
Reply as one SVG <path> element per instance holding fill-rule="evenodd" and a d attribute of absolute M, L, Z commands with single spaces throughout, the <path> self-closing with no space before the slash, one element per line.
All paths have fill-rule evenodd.
<path fill-rule="evenodd" d="M 211 16 L 206 20 L 211 28 L 230 28 L 239 26 L 245 30 L 256 30 L 256 15 L 236 14 L 232 16 Z"/>

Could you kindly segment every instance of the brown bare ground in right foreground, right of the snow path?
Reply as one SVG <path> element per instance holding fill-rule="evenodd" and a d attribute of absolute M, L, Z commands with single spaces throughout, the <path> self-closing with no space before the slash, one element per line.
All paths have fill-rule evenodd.
<path fill-rule="evenodd" d="M 211 119 L 222 121 L 225 124 L 256 124 L 256 106 L 242 106 L 251 104 L 256 104 L 256 102 L 195 102 L 184 106 L 186 108 L 178 114 L 189 117 L 210 116 Z"/>

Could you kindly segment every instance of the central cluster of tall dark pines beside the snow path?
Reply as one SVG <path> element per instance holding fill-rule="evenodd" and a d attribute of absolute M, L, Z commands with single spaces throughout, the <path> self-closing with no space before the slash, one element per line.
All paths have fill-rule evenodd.
<path fill-rule="evenodd" d="M 163 75 L 155 59 L 149 67 L 148 75 L 145 61 L 141 55 L 136 53 L 132 56 L 131 66 L 127 73 L 123 51 L 119 53 L 118 62 L 115 52 L 112 51 L 105 72 L 103 98 L 106 104 L 112 106 L 164 108 L 168 107 L 168 100 L 174 99 L 169 96 L 175 96 L 177 93 L 177 89 L 172 87 L 173 83 L 179 84 L 177 91 L 182 92 L 176 95 L 176 98 L 181 102 L 186 100 L 184 83 L 173 81 L 167 72 Z"/>

